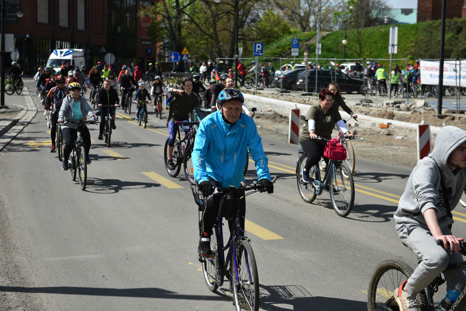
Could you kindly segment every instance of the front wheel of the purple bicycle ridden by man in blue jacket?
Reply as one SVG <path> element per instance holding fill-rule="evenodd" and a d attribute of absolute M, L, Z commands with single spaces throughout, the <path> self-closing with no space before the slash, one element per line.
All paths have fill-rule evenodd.
<path fill-rule="evenodd" d="M 230 274 L 230 282 L 233 285 L 236 310 L 259 311 L 259 275 L 253 248 L 246 238 L 236 243 L 236 267 L 234 268 L 235 275 Z M 233 272 L 233 269 L 230 270 Z"/>

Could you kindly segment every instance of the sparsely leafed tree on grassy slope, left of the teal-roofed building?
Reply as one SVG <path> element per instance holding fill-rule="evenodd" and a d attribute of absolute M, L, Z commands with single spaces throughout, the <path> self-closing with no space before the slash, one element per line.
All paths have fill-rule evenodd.
<path fill-rule="evenodd" d="M 332 23 L 348 33 L 349 41 L 355 42 L 348 45 L 348 50 L 362 58 L 365 38 L 370 36 L 367 32 L 363 35 L 363 28 L 383 24 L 386 16 L 390 16 L 390 7 L 385 0 L 348 0 L 333 13 Z"/>

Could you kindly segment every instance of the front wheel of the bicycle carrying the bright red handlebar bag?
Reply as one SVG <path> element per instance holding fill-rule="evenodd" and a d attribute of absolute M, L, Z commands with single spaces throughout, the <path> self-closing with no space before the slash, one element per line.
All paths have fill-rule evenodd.
<path fill-rule="evenodd" d="M 346 217 L 353 209 L 354 204 L 354 181 L 350 170 L 345 163 L 334 166 L 335 169 L 329 174 L 329 191 L 332 206 L 338 216 Z M 343 170 L 346 169 L 348 180 L 343 176 Z M 336 178 L 334 177 L 334 174 Z"/>

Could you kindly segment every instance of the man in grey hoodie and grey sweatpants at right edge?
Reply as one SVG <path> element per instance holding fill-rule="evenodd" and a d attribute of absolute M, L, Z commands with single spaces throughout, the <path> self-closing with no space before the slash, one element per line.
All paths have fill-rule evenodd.
<path fill-rule="evenodd" d="M 395 290 L 395 300 L 404 311 L 418 311 L 414 297 L 445 270 L 449 263 L 463 261 L 459 241 L 452 235 L 451 210 L 466 185 L 466 131 L 454 126 L 439 130 L 431 154 L 418 161 L 408 178 L 393 218 L 398 237 L 421 262 L 407 281 Z M 442 240 L 444 245 L 437 245 Z M 447 242 L 453 252 L 446 251 Z M 465 270 L 445 272 L 446 286 L 466 284 Z"/>

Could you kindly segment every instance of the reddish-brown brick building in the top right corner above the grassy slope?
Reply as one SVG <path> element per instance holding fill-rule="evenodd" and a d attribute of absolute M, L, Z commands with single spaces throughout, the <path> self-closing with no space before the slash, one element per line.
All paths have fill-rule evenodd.
<path fill-rule="evenodd" d="M 466 0 L 446 1 L 445 17 L 447 19 L 466 18 Z M 442 0 L 418 1 L 418 22 L 440 19 L 442 19 Z"/>

